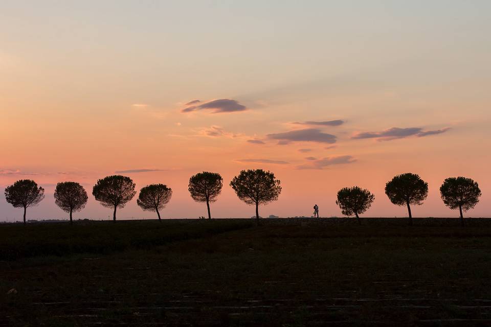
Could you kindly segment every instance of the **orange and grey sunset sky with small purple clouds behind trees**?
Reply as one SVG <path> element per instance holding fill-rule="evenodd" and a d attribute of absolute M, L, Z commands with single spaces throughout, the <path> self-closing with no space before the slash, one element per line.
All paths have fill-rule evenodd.
<path fill-rule="evenodd" d="M 189 177 L 218 172 L 214 217 L 251 217 L 229 186 L 275 173 L 283 191 L 261 216 L 341 216 L 336 193 L 375 195 L 365 217 L 404 217 L 385 183 L 417 173 L 415 217 L 458 217 L 439 196 L 475 179 L 491 215 L 491 2 L 9 1 L 0 3 L 0 221 L 22 210 L 3 189 L 33 179 L 46 198 L 28 219 L 66 218 L 53 199 L 78 181 L 74 218 L 107 219 L 98 178 L 164 183 L 163 218 L 206 216 Z M 154 218 L 136 198 L 118 218 Z"/>

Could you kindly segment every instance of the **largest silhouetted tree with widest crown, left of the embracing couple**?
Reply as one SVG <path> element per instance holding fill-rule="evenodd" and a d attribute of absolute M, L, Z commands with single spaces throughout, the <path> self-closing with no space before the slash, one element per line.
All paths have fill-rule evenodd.
<path fill-rule="evenodd" d="M 249 205 L 256 205 L 256 222 L 259 224 L 259 204 L 278 200 L 281 193 L 280 181 L 275 174 L 262 169 L 242 170 L 230 182 L 230 186 L 240 200 Z"/>

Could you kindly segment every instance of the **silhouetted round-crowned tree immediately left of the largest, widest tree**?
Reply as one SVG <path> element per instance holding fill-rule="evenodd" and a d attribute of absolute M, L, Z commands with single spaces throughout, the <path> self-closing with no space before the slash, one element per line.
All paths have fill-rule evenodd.
<path fill-rule="evenodd" d="M 188 190 L 197 202 L 206 202 L 208 219 L 211 219 L 210 202 L 215 202 L 221 193 L 224 179 L 218 173 L 203 172 L 189 178 Z"/>

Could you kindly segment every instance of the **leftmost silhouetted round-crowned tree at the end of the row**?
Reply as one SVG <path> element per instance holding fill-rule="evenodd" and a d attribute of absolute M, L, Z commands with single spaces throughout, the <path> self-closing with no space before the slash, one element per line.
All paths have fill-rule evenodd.
<path fill-rule="evenodd" d="M 37 205 L 44 199 L 44 189 L 37 187 L 35 181 L 30 179 L 21 179 L 16 181 L 5 189 L 5 199 L 12 204 L 14 208 L 24 208 L 24 224 L 26 224 L 26 209 L 30 206 Z"/>

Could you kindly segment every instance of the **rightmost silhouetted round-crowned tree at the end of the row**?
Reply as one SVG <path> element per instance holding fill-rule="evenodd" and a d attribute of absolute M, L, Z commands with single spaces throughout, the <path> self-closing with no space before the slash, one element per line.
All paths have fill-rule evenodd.
<path fill-rule="evenodd" d="M 460 224 L 464 225 L 462 211 L 472 209 L 481 196 L 479 184 L 471 178 L 450 177 L 440 186 L 440 194 L 443 203 L 451 209 L 459 208 Z"/>

